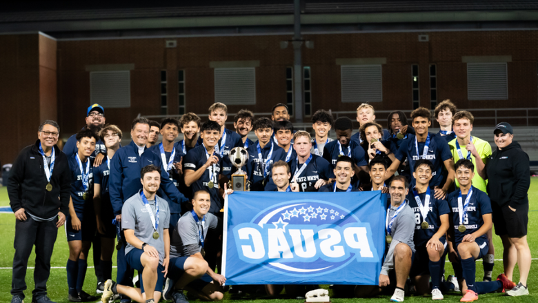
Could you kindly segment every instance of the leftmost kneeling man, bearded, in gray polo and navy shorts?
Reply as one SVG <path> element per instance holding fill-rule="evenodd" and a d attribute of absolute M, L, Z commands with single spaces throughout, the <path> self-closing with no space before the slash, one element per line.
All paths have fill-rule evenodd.
<path fill-rule="evenodd" d="M 125 234 L 128 264 L 142 273 L 141 288 L 105 283 L 101 301 L 108 302 L 112 295 L 122 294 L 141 303 L 159 302 L 164 276 L 170 264 L 170 209 L 168 202 L 157 196 L 161 184 L 161 168 L 144 166 L 140 171 L 142 190 L 127 199 L 121 209 L 121 228 Z M 147 290 L 147 291 L 146 291 Z"/>

